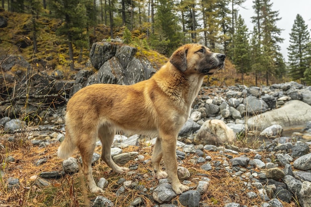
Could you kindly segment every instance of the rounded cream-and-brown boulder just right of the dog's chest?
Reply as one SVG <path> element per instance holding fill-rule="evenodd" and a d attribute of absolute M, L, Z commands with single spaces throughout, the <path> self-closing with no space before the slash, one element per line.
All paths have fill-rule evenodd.
<path fill-rule="evenodd" d="M 195 135 L 195 144 L 219 144 L 233 143 L 236 140 L 235 134 L 221 120 L 207 120 Z"/>

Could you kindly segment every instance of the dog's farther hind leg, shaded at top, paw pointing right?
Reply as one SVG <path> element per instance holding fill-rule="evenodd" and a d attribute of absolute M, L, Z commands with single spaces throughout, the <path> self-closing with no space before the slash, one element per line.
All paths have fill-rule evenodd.
<path fill-rule="evenodd" d="M 129 170 L 127 167 L 118 166 L 111 157 L 111 144 L 115 135 L 115 130 L 107 126 L 101 126 L 98 130 L 98 137 L 102 143 L 101 159 L 116 173 L 124 173 Z"/>

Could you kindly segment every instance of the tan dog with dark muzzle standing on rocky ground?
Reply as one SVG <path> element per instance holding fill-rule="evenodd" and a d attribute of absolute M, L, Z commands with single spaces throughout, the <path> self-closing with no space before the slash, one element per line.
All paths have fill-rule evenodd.
<path fill-rule="evenodd" d="M 102 143 L 101 159 L 114 172 L 129 170 L 111 158 L 116 132 L 154 136 L 154 176 L 169 178 L 178 195 L 189 190 L 177 176 L 177 135 L 187 121 L 205 75 L 224 67 L 226 56 L 199 44 L 178 48 L 150 79 L 133 85 L 93 84 L 80 89 L 67 104 L 66 136 L 58 156 L 68 158 L 78 147 L 82 172 L 92 193 L 103 192 L 92 176 L 91 159 L 96 138 Z M 165 171 L 160 167 L 163 157 Z"/>

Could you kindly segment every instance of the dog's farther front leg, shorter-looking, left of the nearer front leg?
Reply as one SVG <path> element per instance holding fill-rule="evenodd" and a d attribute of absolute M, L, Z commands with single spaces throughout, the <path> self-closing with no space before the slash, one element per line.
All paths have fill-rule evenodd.
<path fill-rule="evenodd" d="M 151 158 L 151 162 L 154 166 L 154 176 L 156 179 L 167 178 L 167 173 L 161 170 L 160 161 L 162 158 L 162 149 L 161 149 L 161 139 L 156 138 L 156 144 L 154 148 L 154 153 Z"/>

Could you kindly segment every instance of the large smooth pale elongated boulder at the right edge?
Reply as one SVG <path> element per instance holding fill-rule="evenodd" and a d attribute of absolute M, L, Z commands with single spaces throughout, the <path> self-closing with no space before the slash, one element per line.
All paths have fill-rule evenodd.
<path fill-rule="evenodd" d="M 267 127 L 278 124 L 282 127 L 305 125 L 311 120 L 311 106 L 303 101 L 292 100 L 283 107 L 268 111 L 247 120 L 251 130 L 264 130 Z"/>

